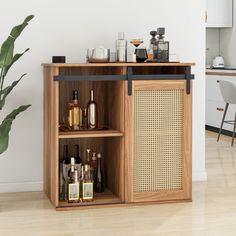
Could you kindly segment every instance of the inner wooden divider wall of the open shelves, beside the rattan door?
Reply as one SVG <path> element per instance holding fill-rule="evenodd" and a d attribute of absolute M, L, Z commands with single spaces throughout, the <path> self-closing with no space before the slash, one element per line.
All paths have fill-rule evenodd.
<path fill-rule="evenodd" d="M 123 72 L 121 72 L 123 73 Z M 107 121 L 110 127 L 125 131 L 125 82 L 107 82 Z M 106 139 L 105 159 L 107 187 L 124 202 L 124 138 Z"/>

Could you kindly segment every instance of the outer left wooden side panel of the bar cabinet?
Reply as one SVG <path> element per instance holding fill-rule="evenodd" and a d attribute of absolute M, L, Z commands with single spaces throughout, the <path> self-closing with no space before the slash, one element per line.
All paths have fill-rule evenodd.
<path fill-rule="evenodd" d="M 59 84 L 53 81 L 58 68 L 44 69 L 44 191 L 58 205 Z"/>

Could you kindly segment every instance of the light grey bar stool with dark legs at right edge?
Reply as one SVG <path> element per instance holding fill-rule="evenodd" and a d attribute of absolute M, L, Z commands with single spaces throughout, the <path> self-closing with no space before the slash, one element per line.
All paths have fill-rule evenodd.
<path fill-rule="evenodd" d="M 229 104 L 236 104 L 236 86 L 231 82 L 223 81 L 223 80 L 219 81 L 219 85 L 220 85 L 220 91 L 221 91 L 222 97 L 223 97 L 226 104 L 225 104 L 225 111 L 224 111 L 223 118 L 222 118 L 221 125 L 220 125 L 220 130 L 219 130 L 217 142 L 220 139 L 223 124 L 224 123 L 232 124 L 234 126 L 234 128 L 233 128 L 231 146 L 233 146 L 234 136 L 235 136 L 235 128 L 236 128 L 236 112 L 235 112 L 234 120 L 225 121 L 225 116 L 226 116 Z"/>

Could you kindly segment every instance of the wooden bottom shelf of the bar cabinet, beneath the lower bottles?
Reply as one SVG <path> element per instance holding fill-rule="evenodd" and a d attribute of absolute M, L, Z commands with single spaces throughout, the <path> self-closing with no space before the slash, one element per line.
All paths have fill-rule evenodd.
<path fill-rule="evenodd" d="M 104 193 L 95 193 L 94 200 L 92 202 L 79 202 L 79 203 L 68 203 L 66 201 L 60 201 L 57 209 L 60 208 L 71 208 L 71 207 L 86 207 L 86 206 L 98 206 L 98 205 L 110 205 L 110 204 L 121 204 L 122 201 L 115 194 L 110 192 L 108 189 Z"/>

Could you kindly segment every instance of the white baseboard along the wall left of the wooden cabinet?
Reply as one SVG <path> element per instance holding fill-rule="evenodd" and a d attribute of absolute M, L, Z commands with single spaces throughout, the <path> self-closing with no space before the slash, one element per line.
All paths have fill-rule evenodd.
<path fill-rule="evenodd" d="M 43 190 L 43 182 L 0 183 L 0 193 L 36 192 Z"/>

